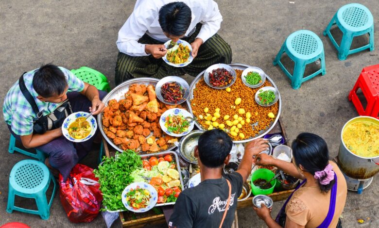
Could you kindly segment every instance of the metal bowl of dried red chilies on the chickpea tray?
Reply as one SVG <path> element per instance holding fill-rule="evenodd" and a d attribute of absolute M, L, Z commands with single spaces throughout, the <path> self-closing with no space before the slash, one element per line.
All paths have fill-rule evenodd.
<path fill-rule="evenodd" d="M 231 86 L 236 78 L 236 71 L 226 64 L 211 65 L 204 72 L 204 81 L 215 89 L 225 89 Z"/>

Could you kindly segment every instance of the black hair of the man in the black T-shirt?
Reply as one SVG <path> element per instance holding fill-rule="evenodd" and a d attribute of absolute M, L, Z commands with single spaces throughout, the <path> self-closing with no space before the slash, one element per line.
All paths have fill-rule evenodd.
<path fill-rule="evenodd" d="M 201 163 L 209 168 L 220 167 L 232 149 L 233 142 L 224 130 L 207 130 L 198 142 Z"/>

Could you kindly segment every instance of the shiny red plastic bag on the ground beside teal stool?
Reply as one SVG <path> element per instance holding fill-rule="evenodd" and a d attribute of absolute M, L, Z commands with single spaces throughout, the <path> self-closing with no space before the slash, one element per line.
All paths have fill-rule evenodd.
<path fill-rule="evenodd" d="M 60 198 L 69 220 L 73 223 L 91 222 L 100 211 L 103 195 L 93 169 L 76 164 L 67 178 L 59 174 Z"/>

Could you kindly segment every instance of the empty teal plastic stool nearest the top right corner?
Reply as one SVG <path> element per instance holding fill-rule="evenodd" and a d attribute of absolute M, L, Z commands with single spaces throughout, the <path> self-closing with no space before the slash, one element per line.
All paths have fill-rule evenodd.
<path fill-rule="evenodd" d="M 330 33 L 330 28 L 337 25 L 338 28 L 344 33 L 342 36 L 341 44 L 338 46 L 333 36 Z M 370 41 L 367 45 L 350 50 L 351 42 L 354 36 L 359 36 L 369 33 Z M 351 3 L 341 7 L 333 16 L 324 35 L 329 36 L 330 41 L 338 50 L 338 59 L 343 61 L 347 55 L 357 53 L 364 49 L 374 50 L 374 19 L 371 12 L 364 6 L 358 3 Z"/>

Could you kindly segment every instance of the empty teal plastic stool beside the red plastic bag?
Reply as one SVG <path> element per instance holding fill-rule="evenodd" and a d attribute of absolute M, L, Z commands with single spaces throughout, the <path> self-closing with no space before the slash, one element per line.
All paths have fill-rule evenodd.
<path fill-rule="evenodd" d="M 46 191 L 49 188 L 51 181 L 54 184 L 54 188 L 50 202 L 48 202 Z M 16 210 L 19 212 L 38 214 L 44 220 L 49 219 L 50 207 L 52 206 L 56 186 L 55 179 L 52 177 L 48 167 L 44 163 L 30 159 L 16 163 L 9 175 L 7 212 L 12 213 Z M 16 195 L 26 198 L 34 198 L 38 211 L 15 206 Z"/>

